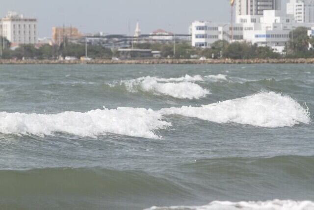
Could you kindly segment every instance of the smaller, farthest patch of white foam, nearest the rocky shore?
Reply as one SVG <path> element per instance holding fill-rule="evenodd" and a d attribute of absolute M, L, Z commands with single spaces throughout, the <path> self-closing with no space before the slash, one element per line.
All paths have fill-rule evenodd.
<path fill-rule="evenodd" d="M 194 77 L 186 75 L 185 77 L 170 79 L 148 76 L 121 81 L 121 83 L 127 87 L 129 92 L 142 90 L 179 99 L 199 99 L 208 95 L 209 90 L 194 83 L 195 81 L 203 81 L 203 78 L 199 75 Z"/>

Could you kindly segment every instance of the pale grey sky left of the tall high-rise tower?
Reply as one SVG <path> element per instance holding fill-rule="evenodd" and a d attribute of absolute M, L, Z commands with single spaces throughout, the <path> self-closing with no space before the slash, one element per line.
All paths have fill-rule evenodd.
<path fill-rule="evenodd" d="M 82 32 L 133 34 L 136 21 L 143 33 L 163 28 L 188 33 L 194 20 L 229 22 L 229 0 L 1 0 L 7 11 L 36 17 L 39 36 L 51 36 L 52 26 L 76 26 Z"/>

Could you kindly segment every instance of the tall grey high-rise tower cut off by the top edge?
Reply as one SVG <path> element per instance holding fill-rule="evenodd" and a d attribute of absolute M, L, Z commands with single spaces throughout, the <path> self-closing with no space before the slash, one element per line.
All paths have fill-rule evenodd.
<path fill-rule="evenodd" d="M 235 14 L 263 15 L 264 10 L 280 10 L 281 0 L 236 0 Z"/>

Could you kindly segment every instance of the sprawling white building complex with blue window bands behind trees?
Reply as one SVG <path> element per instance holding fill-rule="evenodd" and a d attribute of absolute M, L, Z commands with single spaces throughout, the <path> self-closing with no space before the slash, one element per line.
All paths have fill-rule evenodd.
<path fill-rule="evenodd" d="M 294 15 L 282 10 L 264 10 L 262 15 L 236 15 L 233 26 L 231 38 L 230 24 L 195 21 L 191 24 L 192 46 L 210 47 L 213 42 L 224 39 L 268 46 L 282 53 L 290 40 L 291 30 L 299 26 L 311 28 L 314 23 L 296 22 Z"/>

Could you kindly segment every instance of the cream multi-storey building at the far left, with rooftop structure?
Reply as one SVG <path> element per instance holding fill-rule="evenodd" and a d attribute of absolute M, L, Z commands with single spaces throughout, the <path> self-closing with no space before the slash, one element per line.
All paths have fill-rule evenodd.
<path fill-rule="evenodd" d="M 14 46 L 37 43 L 37 19 L 25 18 L 16 12 L 8 12 L 0 19 L 0 36 L 5 37 Z"/>

